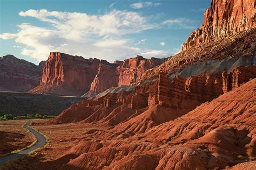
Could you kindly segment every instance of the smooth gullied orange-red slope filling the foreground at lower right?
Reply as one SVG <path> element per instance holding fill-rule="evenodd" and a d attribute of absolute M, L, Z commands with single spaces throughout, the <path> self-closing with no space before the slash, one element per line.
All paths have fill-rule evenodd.
<path fill-rule="evenodd" d="M 146 111 L 140 109 L 142 114 L 138 111 L 114 128 L 99 122 L 63 125 L 62 132 L 68 126 L 64 137 L 67 132 L 76 133 L 72 128 L 80 130 L 73 134 L 74 141 L 64 140 L 71 148 L 63 154 L 51 146 L 62 142 L 58 134 L 49 147 L 61 154 L 37 164 L 61 169 L 253 169 L 255 83 L 253 79 L 169 122 L 162 116 L 175 111 L 156 104 Z M 87 115 L 84 111 L 79 115 Z M 44 126 L 38 127 L 45 131 Z M 53 152 L 49 148 L 43 151 Z"/>

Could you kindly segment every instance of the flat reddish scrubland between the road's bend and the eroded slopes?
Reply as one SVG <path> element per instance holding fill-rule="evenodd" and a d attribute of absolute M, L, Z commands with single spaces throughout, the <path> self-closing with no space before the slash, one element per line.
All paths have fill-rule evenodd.
<path fill-rule="evenodd" d="M 44 160 L 53 160 L 65 153 L 70 147 L 78 144 L 80 139 L 86 138 L 86 132 L 96 127 L 88 124 L 68 123 L 57 125 L 41 125 L 48 120 L 33 121 L 33 129 L 44 134 L 47 139 L 45 147 L 33 152 L 33 154 L 43 154 Z"/>

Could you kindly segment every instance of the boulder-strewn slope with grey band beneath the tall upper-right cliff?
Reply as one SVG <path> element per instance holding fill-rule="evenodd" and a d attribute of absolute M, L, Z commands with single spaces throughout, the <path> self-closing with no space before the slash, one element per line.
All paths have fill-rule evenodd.
<path fill-rule="evenodd" d="M 203 43 L 188 48 L 172 56 L 166 62 L 137 79 L 137 84 L 157 79 L 158 74 L 167 76 L 183 74 L 185 77 L 196 74 L 222 73 L 238 66 L 256 65 L 256 28 L 236 33 L 209 44 Z"/>

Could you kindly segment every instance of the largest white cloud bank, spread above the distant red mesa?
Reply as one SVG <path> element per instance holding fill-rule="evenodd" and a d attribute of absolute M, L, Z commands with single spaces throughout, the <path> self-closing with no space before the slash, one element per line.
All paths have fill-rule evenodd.
<path fill-rule="evenodd" d="M 21 11 L 19 15 L 37 18 L 49 26 L 23 23 L 18 25 L 17 33 L 2 33 L 0 38 L 14 38 L 16 42 L 26 45 L 22 54 L 38 61 L 47 59 L 51 51 L 109 61 L 119 56 L 134 56 L 142 52 L 141 49 L 132 47 L 132 41 L 123 36 L 158 27 L 149 24 L 147 18 L 137 12 L 119 10 L 104 15 L 87 15 L 42 9 Z"/>

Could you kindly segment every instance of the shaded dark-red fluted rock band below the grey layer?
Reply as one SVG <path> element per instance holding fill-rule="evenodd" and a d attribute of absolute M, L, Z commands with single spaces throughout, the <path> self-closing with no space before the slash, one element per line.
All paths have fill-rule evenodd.
<path fill-rule="evenodd" d="M 254 79 L 256 77 L 255 70 L 255 66 L 246 66 L 234 68 L 231 72 L 233 76 L 226 76 L 227 74 L 219 73 L 190 76 L 184 79 L 179 75 L 173 77 L 171 82 L 168 81 L 165 73 L 161 73 L 157 81 L 141 84 L 132 91 L 121 90 L 119 93 L 109 93 L 97 99 L 92 98 L 75 104 L 53 119 L 51 123 L 79 121 L 83 121 L 84 123 L 97 121 L 109 123 L 110 118 L 105 118 L 114 115 L 115 121 L 114 123 L 112 122 L 111 125 L 122 124 L 123 122 L 126 125 L 122 125 L 122 127 L 127 127 L 128 124 L 133 124 L 132 126 L 134 126 L 134 128 L 136 126 L 151 127 L 153 124 L 157 124 L 156 122 L 153 122 L 150 126 L 147 124 L 152 118 L 151 116 L 145 118 L 145 120 L 147 120 L 146 122 L 142 121 L 142 119 L 144 119 L 142 117 L 136 120 L 134 117 L 139 116 L 143 112 L 151 114 L 150 110 L 158 105 L 160 108 L 169 110 L 167 112 L 171 114 L 170 116 L 166 112 L 166 114 L 161 115 L 162 118 L 160 122 L 170 121 L 193 110 L 201 103 L 211 101 L 224 94 L 226 81 L 233 82 L 232 84 L 234 84 L 239 80 L 239 83 L 235 83 L 234 87 L 228 89 L 229 91 Z M 245 77 L 245 75 L 247 76 Z M 160 108 L 156 107 L 155 109 L 159 111 Z M 86 112 L 87 114 L 84 115 L 83 118 L 76 118 L 77 112 L 79 111 L 82 114 L 84 110 L 90 111 Z M 149 110 L 149 112 L 147 112 L 147 110 Z M 126 120 L 124 117 L 126 117 Z M 142 131 L 145 131 L 145 129 Z"/>

